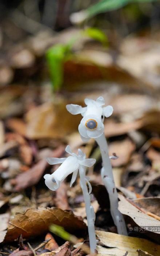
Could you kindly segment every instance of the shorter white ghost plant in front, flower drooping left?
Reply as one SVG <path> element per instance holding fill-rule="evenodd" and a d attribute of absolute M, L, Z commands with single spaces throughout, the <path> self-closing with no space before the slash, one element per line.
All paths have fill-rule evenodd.
<path fill-rule="evenodd" d="M 78 154 L 72 153 L 69 145 L 66 147 L 65 151 L 70 154 L 66 158 L 47 158 L 47 162 L 50 165 L 61 164 L 59 168 L 52 174 L 45 174 L 45 185 L 51 190 L 57 190 L 61 182 L 69 175 L 72 174 L 71 184 L 75 182 L 77 174 L 79 172 L 80 176 L 80 186 L 84 196 L 85 210 L 87 215 L 88 222 L 88 234 L 89 234 L 89 243 L 91 248 L 91 253 L 95 252 L 96 249 L 96 235 L 95 235 L 95 212 L 93 206 L 91 205 L 91 191 L 92 187 L 89 183 L 89 177 L 85 176 L 85 169 L 91 167 L 95 164 L 96 159 L 85 158 L 83 151 L 78 149 Z M 89 191 L 87 188 L 87 184 Z"/>

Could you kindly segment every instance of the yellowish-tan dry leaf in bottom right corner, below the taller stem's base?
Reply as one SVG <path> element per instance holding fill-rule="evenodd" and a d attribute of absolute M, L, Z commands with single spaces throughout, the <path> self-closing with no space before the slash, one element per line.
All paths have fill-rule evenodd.
<path fill-rule="evenodd" d="M 100 242 L 105 245 L 105 247 L 97 246 L 99 256 L 122 256 L 125 255 L 126 251 L 128 256 L 137 256 L 137 249 L 147 251 L 154 256 L 159 256 L 160 245 L 151 241 L 104 231 L 96 231 L 96 235 Z"/>

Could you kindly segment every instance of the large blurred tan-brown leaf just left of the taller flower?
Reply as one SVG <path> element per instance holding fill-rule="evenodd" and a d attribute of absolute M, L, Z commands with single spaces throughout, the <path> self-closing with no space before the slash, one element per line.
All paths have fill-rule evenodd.
<path fill-rule="evenodd" d="M 71 115 L 66 105 L 70 102 L 45 103 L 30 111 L 26 115 L 27 137 L 63 138 L 75 131 L 80 123 L 80 115 Z M 79 103 L 77 103 L 79 104 Z"/>

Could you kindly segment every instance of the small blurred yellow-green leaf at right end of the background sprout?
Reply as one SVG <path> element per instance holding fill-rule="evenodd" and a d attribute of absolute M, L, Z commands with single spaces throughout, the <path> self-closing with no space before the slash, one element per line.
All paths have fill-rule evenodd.
<path fill-rule="evenodd" d="M 101 42 L 105 46 L 108 44 L 107 36 L 98 28 L 87 28 L 84 30 L 84 35 Z"/>

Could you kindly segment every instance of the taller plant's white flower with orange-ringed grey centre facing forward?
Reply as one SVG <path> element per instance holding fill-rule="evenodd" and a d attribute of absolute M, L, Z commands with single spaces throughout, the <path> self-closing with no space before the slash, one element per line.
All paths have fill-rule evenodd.
<path fill-rule="evenodd" d="M 93 99 L 84 100 L 87 107 L 69 104 L 66 106 L 67 110 L 73 114 L 81 114 L 83 116 L 78 127 L 79 133 L 83 141 L 88 141 L 90 138 L 98 138 L 104 132 L 104 117 L 110 117 L 113 113 L 113 107 L 105 105 L 104 98 L 99 97 L 94 101 Z"/>

